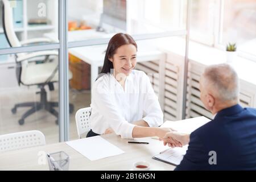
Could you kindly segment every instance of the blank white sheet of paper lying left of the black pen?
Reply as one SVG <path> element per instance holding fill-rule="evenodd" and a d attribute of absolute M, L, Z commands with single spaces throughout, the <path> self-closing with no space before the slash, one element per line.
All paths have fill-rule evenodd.
<path fill-rule="evenodd" d="M 98 160 L 125 153 L 125 151 L 100 136 L 72 140 L 65 143 L 90 160 Z"/>

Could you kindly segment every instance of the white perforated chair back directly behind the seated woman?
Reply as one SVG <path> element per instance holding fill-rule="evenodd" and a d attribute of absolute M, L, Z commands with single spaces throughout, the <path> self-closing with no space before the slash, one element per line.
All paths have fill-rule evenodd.
<path fill-rule="evenodd" d="M 76 111 L 76 128 L 79 138 L 81 138 L 81 134 L 90 130 L 90 111 L 91 107 L 85 107 Z"/>

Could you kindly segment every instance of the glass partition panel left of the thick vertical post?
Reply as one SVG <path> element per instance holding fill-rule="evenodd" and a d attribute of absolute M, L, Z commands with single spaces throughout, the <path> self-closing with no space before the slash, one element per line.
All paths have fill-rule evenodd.
<path fill-rule="evenodd" d="M 0 1 L 0 135 L 40 130 L 59 142 L 58 1 Z M 10 10 L 10 11 L 8 11 Z"/>

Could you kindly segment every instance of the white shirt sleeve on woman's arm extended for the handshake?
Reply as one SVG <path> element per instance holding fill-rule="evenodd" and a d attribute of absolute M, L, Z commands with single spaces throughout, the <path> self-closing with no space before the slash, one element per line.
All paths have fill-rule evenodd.
<path fill-rule="evenodd" d="M 127 122 L 122 116 L 113 99 L 114 93 L 110 93 L 108 87 L 109 85 L 104 79 L 98 80 L 92 89 L 92 103 L 104 115 L 115 134 L 121 135 L 122 138 L 133 138 L 132 133 L 135 125 Z"/>

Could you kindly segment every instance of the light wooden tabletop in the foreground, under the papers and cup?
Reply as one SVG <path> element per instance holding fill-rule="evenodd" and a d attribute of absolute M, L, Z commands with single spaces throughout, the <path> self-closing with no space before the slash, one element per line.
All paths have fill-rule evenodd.
<path fill-rule="evenodd" d="M 131 144 L 115 134 L 102 135 L 102 138 L 125 151 L 124 154 L 90 161 L 64 142 L 46 146 L 24 148 L 22 150 L 2 152 L 0 170 L 49 170 L 47 159 L 42 163 L 44 154 L 64 151 L 69 155 L 69 170 L 130 170 L 134 162 L 146 160 L 151 170 L 173 170 L 175 166 L 152 159 L 152 156 L 168 148 L 159 140 L 143 138 L 150 144 Z M 140 139 L 140 140 L 143 140 Z M 103 151 L 102 151 L 103 152 Z"/>

